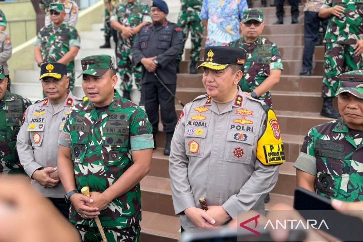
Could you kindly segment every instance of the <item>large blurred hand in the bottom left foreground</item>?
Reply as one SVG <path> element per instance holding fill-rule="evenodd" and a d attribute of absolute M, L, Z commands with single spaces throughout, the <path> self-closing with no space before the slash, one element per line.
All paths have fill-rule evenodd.
<path fill-rule="evenodd" d="M 0 175 L 0 227 L 1 242 L 81 241 L 72 224 L 22 175 Z"/>

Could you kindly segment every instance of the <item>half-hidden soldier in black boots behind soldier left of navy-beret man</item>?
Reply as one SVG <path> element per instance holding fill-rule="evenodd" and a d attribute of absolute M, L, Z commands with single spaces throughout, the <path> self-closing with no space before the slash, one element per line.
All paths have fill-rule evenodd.
<path fill-rule="evenodd" d="M 125 0 L 104 0 L 105 2 L 105 22 L 103 23 L 103 31 L 105 32 L 105 44 L 99 46 L 99 48 L 111 48 L 110 38 L 114 39 L 115 46 L 117 46 L 117 31 L 111 28 L 110 15 L 119 3 L 125 2 Z"/>

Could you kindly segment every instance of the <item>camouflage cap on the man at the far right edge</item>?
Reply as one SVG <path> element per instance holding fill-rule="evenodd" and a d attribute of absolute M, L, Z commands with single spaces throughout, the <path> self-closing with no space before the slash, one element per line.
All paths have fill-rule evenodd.
<path fill-rule="evenodd" d="M 336 96 L 340 93 L 350 93 L 363 99 L 363 70 L 348 71 L 339 75 L 339 86 Z"/>

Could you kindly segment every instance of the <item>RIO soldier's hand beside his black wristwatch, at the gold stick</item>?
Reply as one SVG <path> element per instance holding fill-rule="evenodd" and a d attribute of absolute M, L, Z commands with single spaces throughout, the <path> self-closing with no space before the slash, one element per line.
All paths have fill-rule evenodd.
<path fill-rule="evenodd" d="M 98 208 L 89 206 L 91 203 L 93 203 L 93 199 L 86 197 L 81 193 L 74 193 L 72 196 L 70 196 L 70 201 L 77 210 L 77 213 L 79 213 L 83 218 L 91 219 L 99 215 Z"/>

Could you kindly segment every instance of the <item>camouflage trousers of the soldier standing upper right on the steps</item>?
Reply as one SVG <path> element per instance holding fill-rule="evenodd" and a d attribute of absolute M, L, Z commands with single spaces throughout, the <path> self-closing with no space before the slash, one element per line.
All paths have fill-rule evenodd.
<path fill-rule="evenodd" d="M 354 55 L 354 45 L 325 43 L 322 97 L 335 97 L 340 74 L 362 69 L 362 55 Z"/>

